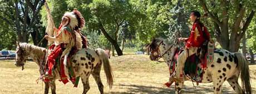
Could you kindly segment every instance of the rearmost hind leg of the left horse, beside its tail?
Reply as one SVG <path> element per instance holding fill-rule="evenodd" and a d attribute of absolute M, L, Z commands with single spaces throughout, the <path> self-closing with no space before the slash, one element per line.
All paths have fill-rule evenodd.
<path fill-rule="evenodd" d="M 101 82 L 100 70 L 101 70 L 101 64 L 99 64 L 98 66 L 95 66 L 95 69 L 92 71 L 92 76 L 98 85 L 100 93 L 103 94 L 104 93 L 104 85 Z"/>

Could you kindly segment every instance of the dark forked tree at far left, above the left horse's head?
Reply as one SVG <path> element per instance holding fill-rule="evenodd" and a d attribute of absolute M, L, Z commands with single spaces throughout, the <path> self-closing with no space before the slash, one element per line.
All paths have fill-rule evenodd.
<path fill-rule="evenodd" d="M 40 23 L 39 11 L 44 2 L 43 0 L 1 1 L 2 4 L 7 6 L 1 6 L 0 12 L 6 17 L 4 20 L 16 28 L 18 41 L 28 42 L 29 35 L 32 36 L 35 45 L 40 41 L 44 31 Z"/>

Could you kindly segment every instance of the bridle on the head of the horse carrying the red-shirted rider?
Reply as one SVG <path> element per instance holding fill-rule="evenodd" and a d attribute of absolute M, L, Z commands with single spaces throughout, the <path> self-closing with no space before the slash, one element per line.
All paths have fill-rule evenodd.
<path fill-rule="evenodd" d="M 155 57 L 155 58 L 153 58 L 152 60 L 154 60 L 154 61 L 159 61 L 160 58 L 162 58 L 171 48 L 173 48 L 173 45 L 171 45 L 170 48 L 167 49 L 167 50 L 164 52 L 164 54 L 162 54 L 162 55 L 156 55 L 156 56 L 155 56 L 154 53 L 155 53 L 155 52 L 159 53 L 159 46 L 160 46 L 161 44 L 163 44 L 163 42 L 164 42 L 164 40 L 161 40 L 161 42 L 156 46 L 156 49 L 151 51 L 152 56 Z M 165 62 L 165 61 L 159 61 L 159 62 Z"/>

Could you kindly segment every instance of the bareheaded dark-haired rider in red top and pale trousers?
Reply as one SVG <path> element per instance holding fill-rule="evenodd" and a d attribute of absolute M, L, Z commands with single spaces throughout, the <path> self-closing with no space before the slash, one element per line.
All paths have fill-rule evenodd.
<path fill-rule="evenodd" d="M 183 69 L 186 59 L 198 52 L 202 48 L 203 44 L 207 44 L 210 40 L 210 35 L 204 24 L 200 22 L 200 13 L 198 11 L 192 11 L 190 14 L 190 21 L 193 23 L 192 30 L 189 38 L 179 38 L 180 41 L 185 41 L 185 50 L 178 56 L 178 65 L 176 67 L 176 73 L 173 75 L 176 79 L 184 81 Z M 200 56 L 201 62 L 204 62 L 204 55 Z"/>

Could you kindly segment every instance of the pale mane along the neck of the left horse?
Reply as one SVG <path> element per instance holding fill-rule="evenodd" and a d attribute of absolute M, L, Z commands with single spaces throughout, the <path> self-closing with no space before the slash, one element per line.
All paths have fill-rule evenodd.
<path fill-rule="evenodd" d="M 35 46 L 27 43 L 20 43 L 19 47 L 25 51 L 29 51 L 29 53 L 37 53 L 37 54 L 42 54 L 42 52 L 46 50 L 45 48 L 41 48 L 40 46 Z"/>

